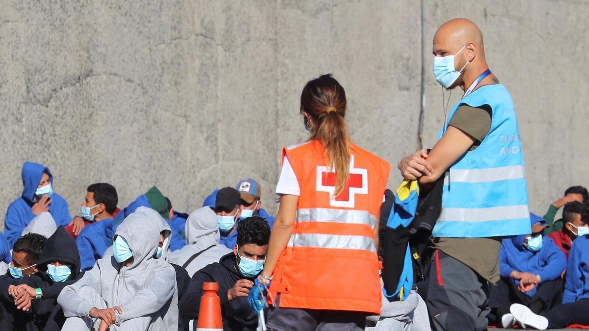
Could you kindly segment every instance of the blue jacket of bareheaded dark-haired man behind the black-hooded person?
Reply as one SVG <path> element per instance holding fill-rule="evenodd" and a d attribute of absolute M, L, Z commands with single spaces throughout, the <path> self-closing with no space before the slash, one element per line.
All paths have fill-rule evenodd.
<path fill-rule="evenodd" d="M 78 234 L 75 242 L 80 251 L 82 270 L 92 269 L 96 260 L 101 259 L 104 252 L 111 246 L 113 223 L 114 219 L 95 221 L 85 226 Z"/>

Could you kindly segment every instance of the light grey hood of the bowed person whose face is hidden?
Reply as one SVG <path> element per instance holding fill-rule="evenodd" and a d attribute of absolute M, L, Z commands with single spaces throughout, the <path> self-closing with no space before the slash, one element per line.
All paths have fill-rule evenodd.
<path fill-rule="evenodd" d="M 190 213 L 184 225 L 187 244 L 206 242 L 207 246 L 218 244 L 220 239 L 217 214 L 209 207 L 203 207 Z"/>

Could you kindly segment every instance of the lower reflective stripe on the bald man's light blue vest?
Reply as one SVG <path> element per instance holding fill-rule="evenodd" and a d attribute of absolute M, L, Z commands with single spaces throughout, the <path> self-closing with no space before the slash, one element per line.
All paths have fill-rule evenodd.
<path fill-rule="evenodd" d="M 438 221 L 470 222 L 498 221 L 511 219 L 525 219 L 530 217 L 527 204 L 519 206 L 490 207 L 490 208 L 443 208 Z"/>

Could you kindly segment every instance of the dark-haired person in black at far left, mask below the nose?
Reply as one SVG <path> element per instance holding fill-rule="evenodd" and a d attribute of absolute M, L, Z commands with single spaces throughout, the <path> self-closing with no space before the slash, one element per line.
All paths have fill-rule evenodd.
<path fill-rule="evenodd" d="M 32 323 L 31 315 L 22 310 L 28 303 L 27 297 L 15 300 L 8 290 L 11 286 L 24 284 L 32 274 L 39 271 L 37 262 L 46 241 L 47 238 L 41 234 L 28 233 L 14 243 L 8 272 L 0 276 L 0 330 L 21 330 Z"/>

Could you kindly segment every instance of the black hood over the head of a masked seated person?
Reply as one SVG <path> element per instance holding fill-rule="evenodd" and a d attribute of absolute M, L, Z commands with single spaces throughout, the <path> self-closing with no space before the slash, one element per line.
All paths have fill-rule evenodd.
<path fill-rule="evenodd" d="M 52 261 L 65 262 L 74 266 L 71 268 L 72 274 L 69 279 L 75 279 L 80 273 L 81 263 L 78 245 L 63 226 L 58 227 L 45 243 L 39 260 L 37 260 L 39 271 L 46 274 L 47 267 L 45 264 Z"/>

